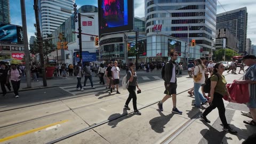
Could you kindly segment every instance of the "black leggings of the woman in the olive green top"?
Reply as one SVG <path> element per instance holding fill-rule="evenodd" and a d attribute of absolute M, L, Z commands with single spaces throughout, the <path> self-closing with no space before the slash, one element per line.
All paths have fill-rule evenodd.
<path fill-rule="evenodd" d="M 207 116 L 211 111 L 215 108 L 218 108 L 219 110 L 219 117 L 224 126 L 228 126 L 228 122 L 225 116 L 225 106 L 222 100 L 222 95 L 219 93 L 213 94 L 213 101 L 211 102 L 211 105 L 207 107 L 203 113 L 203 116 Z"/>

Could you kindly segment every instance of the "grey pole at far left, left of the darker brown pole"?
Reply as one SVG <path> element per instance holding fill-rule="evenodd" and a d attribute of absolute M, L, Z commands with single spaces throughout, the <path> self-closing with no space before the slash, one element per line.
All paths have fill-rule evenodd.
<path fill-rule="evenodd" d="M 30 60 L 29 60 L 29 51 L 28 51 L 28 34 L 27 34 L 27 21 L 26 21 L 26 6 L 25 0 L 20 0 L 21 6 L 21 19 L 22 19 L 22 29 L 23 29 L 23 38 L 24 38 L 24 51 L 25 51 L 25 62 L 26 62 L 26 81 L 27 87 L 31 87 L 30 81 Z"/>

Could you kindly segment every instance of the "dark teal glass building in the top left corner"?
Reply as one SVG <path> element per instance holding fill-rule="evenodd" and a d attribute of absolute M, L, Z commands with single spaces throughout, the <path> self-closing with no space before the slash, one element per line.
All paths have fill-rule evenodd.
<path fill-rule="evenodd" d="M 0 23 L 10 24 L 10 2 L 9 0 L 0 1 Z"/>

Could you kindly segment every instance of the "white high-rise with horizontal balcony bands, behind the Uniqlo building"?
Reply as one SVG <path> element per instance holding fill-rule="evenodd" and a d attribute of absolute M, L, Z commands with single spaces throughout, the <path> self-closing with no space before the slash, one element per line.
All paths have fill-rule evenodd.
<path fill-rule="evenodd" d="M 73 12 L 75 0 L 40 0 L 38 1 L 39 22 L 42 36 L 52 34 Z"/>

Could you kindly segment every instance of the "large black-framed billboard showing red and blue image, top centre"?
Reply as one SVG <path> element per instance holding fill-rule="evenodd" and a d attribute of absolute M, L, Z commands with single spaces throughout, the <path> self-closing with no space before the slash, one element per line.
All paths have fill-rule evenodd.
<path fill-rule="evenodd" d="M 133 30 L 133 0 L 99 0 L 99 36 Z"/>

